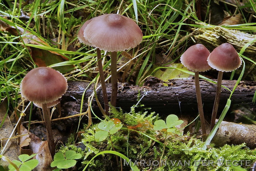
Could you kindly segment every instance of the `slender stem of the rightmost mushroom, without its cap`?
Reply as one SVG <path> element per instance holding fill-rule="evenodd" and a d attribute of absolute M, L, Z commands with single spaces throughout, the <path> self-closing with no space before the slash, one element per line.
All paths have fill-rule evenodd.
<path fill-rule="evenodd" d="M 210 127 L 211 130 L 213 129 L 213 127 L 215 125 L 215 119 L 216 119 L 217 111 L 218 111 L 218 107 L 219 107 L 219 99 L 221 97 L 222 76 L 223 76 L 223 72 L 219 71 L 218 80 L 217 80 L 217 88 L 216 88 L 216 96 L 215 96 L 214 106 L 213 106 L 212 115 L 211 115 L 211 127 Z"/>

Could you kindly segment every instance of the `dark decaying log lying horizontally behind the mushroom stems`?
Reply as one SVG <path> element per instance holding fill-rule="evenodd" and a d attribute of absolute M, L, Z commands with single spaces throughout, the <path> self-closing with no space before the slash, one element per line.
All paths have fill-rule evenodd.
<path fill-rule="evenodd" d="M 235 80 L 223 80 L 222 85 L 230 90 L 236 84 Z M 124 111 L 129 111 L 133 104 L 136 104 L 138 94 L 140 93 L 140 103 L 146 107 L 151 107 L 152 111 L 160 114 L 197 114 L 197 103 L 195 93 L 194 80 L 170 80 L 168 86 L 163 86 L 161 80 L 154 77 L 148 79 L 143 87 L 128 85 L 127 83 L 118 84 L 117 107 L 121 107 Z M 61 99 L 62 116 L 74 115 L 80 113 L 80 103 L 82 95 L 86 90 L 88 83 L 72 81 L 68 83 L 68 90 Z M 107 84 L 108 98 L 110 100 L 111 85 Z M 215 99 L 216 84 L 200 80 L 200 88 L 202 92 L 204 114 L 210 118 L 212 107 Z M 256 90 L 256 82 L 241 81 L 236 88 L 231 100 L 231 106 L 239 104 L 248 108 L 255 108 L 252 103 L 253 95 Z M 83 112 L 87 110 L 87 98 L 93 93 L 93 86 L 90 86 L 85 93 Z M 97 91 L 99 102 L 103 104 L 102 92 Z M 143 96 L 143 97 L 142 97 Z M 230 91 L 222 88 L 221 100 L 218 113 L 221 113 Z M 104 106 L 104 105 L 102 105 Z M 101 116 L 97 103 L 93 101 L 92 109 L 96 114 Z"/>

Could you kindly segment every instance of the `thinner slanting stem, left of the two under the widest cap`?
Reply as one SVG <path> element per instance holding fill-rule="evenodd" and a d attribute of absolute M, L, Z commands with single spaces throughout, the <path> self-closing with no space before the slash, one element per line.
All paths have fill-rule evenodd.
<path fill-rule="evenodd" d="M 101 79 L 101 90 L 102 90 L 102 95 L 104 100 L 105 112 L 106 112 L 106 115 L 109 115 L 109 106 L 108 106 L 109 101 L 108 101 L 105 77 L 104 77 L 102 60 L 101 60 L 101 50 L 99 50 L 99 48 L 97 48 L 97 60 L 98 60 L 98 68 L 99 68 L 99 77 Z"/>

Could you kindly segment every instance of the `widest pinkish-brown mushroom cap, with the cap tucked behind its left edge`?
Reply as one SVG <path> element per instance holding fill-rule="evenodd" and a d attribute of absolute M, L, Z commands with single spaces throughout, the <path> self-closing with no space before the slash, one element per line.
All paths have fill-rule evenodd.
<path fill-rule="evenodd" d="M 84 39 L 93 47 L 109 52 L 123 51 L 142 41 L 142 31 L 132 20 L 119 14 L 105 14 L 84 23 Z M 79 31 L 80 32 L 80 31 Z M 80 41 L 84 41 L 79 38 Z"/>

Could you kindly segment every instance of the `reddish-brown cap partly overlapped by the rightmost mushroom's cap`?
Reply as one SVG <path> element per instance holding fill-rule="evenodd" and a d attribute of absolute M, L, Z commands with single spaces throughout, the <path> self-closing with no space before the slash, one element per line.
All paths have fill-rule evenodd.
<path fill-rule="evenodd" d="M 189 47 L 180 57 L 181 63 L 193 71 L 207 71 L 211 66 L 207 63 L 209 50 L 202 44 L 196 44 Z"/>

